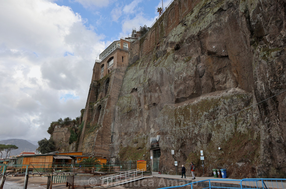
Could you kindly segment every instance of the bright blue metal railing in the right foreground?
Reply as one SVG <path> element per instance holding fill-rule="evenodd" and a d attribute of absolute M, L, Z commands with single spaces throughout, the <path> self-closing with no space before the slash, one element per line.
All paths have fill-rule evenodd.
<path fill-rule="evenodd" d="M 238 187 L 222 187 L 222 186 L 211 186 L 210 181 L 239 181 L 240 184 L 237 184 Z M 208 180 L 200 180 L 196 182 L 191 182 L 188 184 L 180 185 L 180 186 L 169 186 L 164 188 L 158 188 L 158 189 L 168 189 L 168 188 L 179 188 L 191 185 L 191 189 L 193 188 L 193 185 L 198 184 L 199 182 L 208 182 L 209 186 L 206 188 L 236 188 L 236 189 L 284 189 L 286 187 L 286 179 L 273 179 L 273 178 L 245 178 L 242 180 L 237 179 L 208 179 Z M 215 183 L 214 183 L 215 184 Z M 234 184 L 234 183 L 228 183 L 228 184 Z M 285 187 L 284 187 L 285 186 Z M 203 188 L 203 189 L 206 189 Z M 286 189 L 286 188 L 285 188 Z"/>

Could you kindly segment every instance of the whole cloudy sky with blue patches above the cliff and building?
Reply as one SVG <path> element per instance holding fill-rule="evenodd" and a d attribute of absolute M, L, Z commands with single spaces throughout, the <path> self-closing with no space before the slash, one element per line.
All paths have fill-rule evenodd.
<path fill-rule="evenodd" d="M 52 121 L 79 116 L 96 57 L 152 25 L 157 7 L 162 0 L 1 0 L 0 140 L 35 143 Z"/>

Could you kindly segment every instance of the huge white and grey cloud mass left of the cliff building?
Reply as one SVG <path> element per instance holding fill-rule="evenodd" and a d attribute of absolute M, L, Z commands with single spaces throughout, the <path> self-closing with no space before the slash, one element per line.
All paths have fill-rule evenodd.
<path fill-rule="evenodd" d="M 0 139 L 49 138 L 50 122 L 84 108 L 104 36 L 51 1 L 0 1 L 0 17 Z"/>

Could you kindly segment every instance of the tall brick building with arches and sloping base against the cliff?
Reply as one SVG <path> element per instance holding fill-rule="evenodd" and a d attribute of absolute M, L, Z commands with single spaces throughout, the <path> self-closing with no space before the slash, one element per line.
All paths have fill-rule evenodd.
<path fill-rule="evenodd" d="M 90 91 L 83 115 L 84 126 L 79 150 L 111 157 L 111 125 L 124 72 L 128 66 L 130 41 L 120 39 L 111 43 L 96 60 Z"/>

